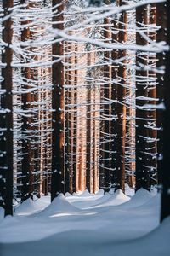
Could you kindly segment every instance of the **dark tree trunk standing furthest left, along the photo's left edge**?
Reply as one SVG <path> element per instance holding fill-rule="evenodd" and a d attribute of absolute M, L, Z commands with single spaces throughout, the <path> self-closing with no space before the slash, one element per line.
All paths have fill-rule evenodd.
<path fill-rule="evenodd" d="M 4 17 L 10 15 L 13 0 L 3 0 Z M 13 215 L 13 49 L 10 47 L 13 39 L 13 22 L 9 16 L 3 21 L 1 109 L 0 109 L 0 206 L 4 207 L 5 215 Z"/>

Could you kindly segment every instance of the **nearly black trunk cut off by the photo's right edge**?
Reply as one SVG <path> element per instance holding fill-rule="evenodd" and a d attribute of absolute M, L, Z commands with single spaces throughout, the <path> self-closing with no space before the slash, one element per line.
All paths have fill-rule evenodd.
<path fill-rule="evenodd" d="M 162 14 L 161 14 L 162 17 Z M 167 1 L 167 45 L 170 46 L 170 2 Z M 166 53 L 166 73 L 164 81 L 164 119 L 163 119 L 163 162 L 162 162 L 162 194 L 161 221 L 170 216 L 170 49 Z"/>

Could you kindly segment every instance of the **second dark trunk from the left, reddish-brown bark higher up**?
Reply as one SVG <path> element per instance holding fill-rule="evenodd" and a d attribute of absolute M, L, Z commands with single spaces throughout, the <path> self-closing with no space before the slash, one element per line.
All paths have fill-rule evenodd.
<path fill-rule="evenodd" d="M 29 8 L 29 7 L 28 7 Z M 29 25 L 29 21 L 23 21 L 21 22 L 22 26 Z M 21 31 L 21 41 L 26 42 L 27 40 L 31 39 L 31 31 L 29 27 L 25 27 Z M 32 95 L 29 89 L 31 87 L 29 86 L 28 80 L 32 79 L 32 70 L 31 67 L 23 67 L 21 68 L 21 74 L 23 80 L 27 83 L 25 90 L 28 90 L 28 92 L 24 93 L 22 95 L 22 108 L 24 112 L 27 112 L 31 110 L 31 102 L 32 102 Z M 25 87 L 25 86 L 24 86 Z M 23 90 L 24 90 L 23 89 Z M 25 114 L 22 119 L 23 125 L 22 125 L 22 136 L 23 136 L 23 142 L 22 142 L 22 179 L 21 179 L 21 201 L 25 201 L 27 198 L 32 197 L 32 172 L 34 171 L 34 165 L 33 165 L 33 158 L 34 158 L 34 152 L 31 147 L 31 122 L 32 118 L 30 117 L 30 114 Z"/>

